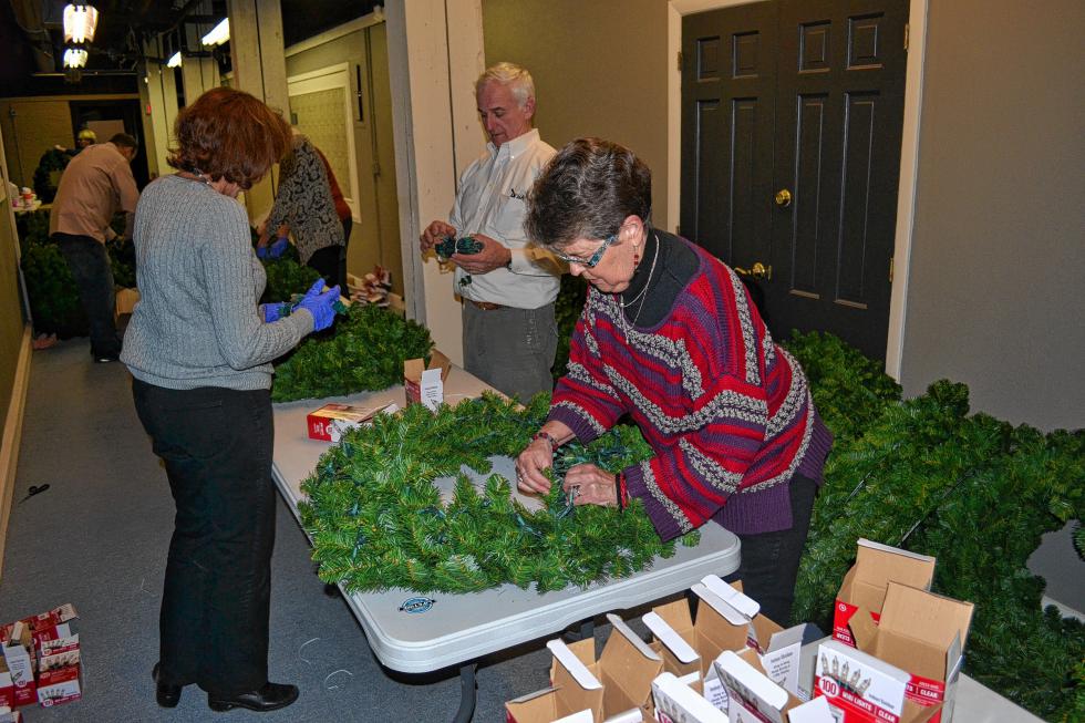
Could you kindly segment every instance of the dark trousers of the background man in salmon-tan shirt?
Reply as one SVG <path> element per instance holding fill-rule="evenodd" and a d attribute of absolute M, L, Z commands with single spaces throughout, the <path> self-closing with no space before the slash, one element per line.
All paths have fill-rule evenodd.
<path fill-rule="evenodd" d="M 113 321 L 116 297 L 113 289 L 113 268 L 105 245 L 90 236 L 53 234 L 68 261 L 68 268 L 79 287 L 80 301 L 91 326 L 91 353 L 95 357 L 117 357 L 121 338 Z"/>

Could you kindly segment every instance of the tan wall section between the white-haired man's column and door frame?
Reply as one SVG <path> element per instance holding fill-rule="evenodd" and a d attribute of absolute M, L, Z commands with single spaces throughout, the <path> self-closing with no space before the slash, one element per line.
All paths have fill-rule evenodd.
<path fill-rule="evenodd" d="M 560 148 L 593 135 L 631 148 L 652 169 L 660 228 L 668 227 L 666 11 L 662 0 L 483 0 L 486 64 L 531 72 L 542 140 Z"/>

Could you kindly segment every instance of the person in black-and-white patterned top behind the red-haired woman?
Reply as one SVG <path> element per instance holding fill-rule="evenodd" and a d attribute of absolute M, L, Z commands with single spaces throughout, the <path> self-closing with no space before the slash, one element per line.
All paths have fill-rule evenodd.
<path fill-rule="evenodd" d="M 317 147 L 294 131 L 291 151 L 279 166 L 275 206 L 260 227 L 260 245 L 267 244 L 271 231 L 279 236 L 292 231 L 301 262 L 347 293 L 347 241 L 324 168 Z"/>

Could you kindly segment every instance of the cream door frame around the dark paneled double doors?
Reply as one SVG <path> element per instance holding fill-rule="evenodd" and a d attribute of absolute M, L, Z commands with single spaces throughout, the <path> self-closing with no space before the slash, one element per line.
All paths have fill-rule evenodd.
<path fill-rule="evenodd" d="M 762 0 L 669 0 L 666 22 L 668 72 L 668 187 L 666 217 L 671 230 L 681 209 L 682 177 L 682 16 L 751 4 Z M 923 61 L 927 51 L 927 12 L 930 0 L 910 0 L 908 8 L 908 61 L 905 69 L 905 117 L 901 127 L 900 177 L 897 185 L 897 226 L 893 238 L 892 290 L 889 299 L 889 330 L 886 341 L 886 373 L 900 381 L 908 303 L 908 277 L 916 216 L 916 185 L 919 180 L 919 130 L 922 111 Z"/>

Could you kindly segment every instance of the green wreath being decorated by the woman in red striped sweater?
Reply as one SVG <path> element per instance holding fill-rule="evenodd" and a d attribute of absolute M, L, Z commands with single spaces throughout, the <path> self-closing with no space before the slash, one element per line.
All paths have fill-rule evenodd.
<path fill-rule="evenodd" d="M 301 485 L 309 499 L 298 507 L 320 579 L 349 591 L 477 592 L 510 582 L 541 593 L 629 577 L 655 556 L 671 557 L 674 540 L 660 540 L 639 500 L 624 512 L 574 507 L 561 492 L 560 476 L 575 464 L 616 472 L 648 458 L 634 426 L 562 446 L 541 509 L 513 498 L 513 483 L 489 457 L 518 454 L 549 401 L 539 394 L 519 407 L 486 393 L 435 413 L 414 404 L 345 434 Z M 483 489 L 465 467 L 488 475 Z M 453 476 L 452 499 L 443 502 L 434 482 Z M 679 541 L 693 547 L 700 534 Z"/>

